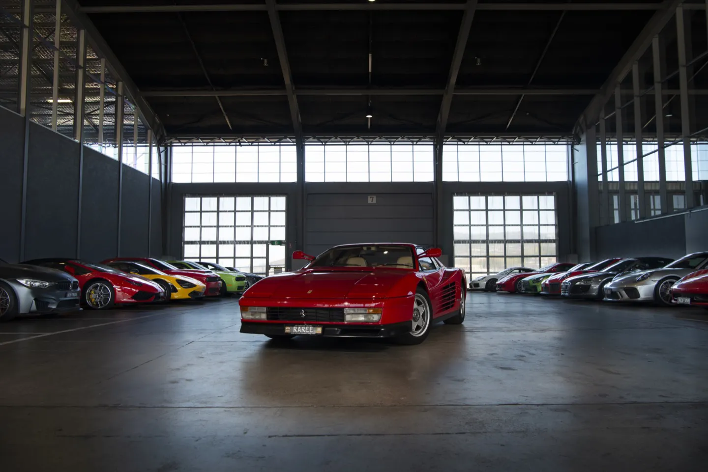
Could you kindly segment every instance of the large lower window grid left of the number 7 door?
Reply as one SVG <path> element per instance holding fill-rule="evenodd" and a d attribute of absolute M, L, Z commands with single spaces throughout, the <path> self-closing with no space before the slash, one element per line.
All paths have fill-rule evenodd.
<path fill-rule="evenodd" d="M 183 255 L 266 275 L 285 270 L 285 197 L 187 196 Z M 270 241 L 283 241 L 270 246 Z"/>

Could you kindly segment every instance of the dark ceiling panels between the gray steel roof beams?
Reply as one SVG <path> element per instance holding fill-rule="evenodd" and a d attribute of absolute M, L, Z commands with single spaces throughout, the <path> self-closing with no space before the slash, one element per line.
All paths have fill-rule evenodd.
<path fill-rule="evenodd" d="M 268 11 L 263 8 L 265 1 L 80 0 L 80 3 L 144 93 L 169 136 L 292 134 L 292 115 L 272 25 Z M 615 3 L 582 0 L 583 4 L 608 2 Z M 422 11 L 280 8 L 278 15 L 303 133 L 434 134 L 463 17 L 460 9 L 442 8 L 465 2 L 278 0 L 283 7 L 322 3 L 358 4 L 367 8 L 420 3 L 442 6 L 440 10 Z M 479 2 L 459 67 L 447 134 L 571 133 L 595 91 L 654 13 L 650 9 L 564 12 L 495 11 L 482 7 L 508 3 L 507 0 Z M 622 3 L 661 2 L 623 0 Z M 92 7 L 101 6 L 195 4 L 249 4 L 260 9 L 181 13 L 91 11 Z M 693 27 L 690 50 L 703 52 L 705 12 L 689 13 L 688 24 Z M 675 32 L 673 35 L 675 38 Z M 676 69 L 673 44 L 670 40 L 666 42 L 668 73 Z M 646 57 L 648 65 L 642 68 L 643 88 L 653 82 L 649 59 Z M 702 62 L 697 63 L 700 65 Z M 699 81 L 697 75 L 695 84 Z M 626 86 L 631 90 L 631 81 Z M 479 89 L 489 88 L 501 88 L 504 92 L 479 94 Z M 566 92 L 530 94 L 521 100 L 520 93 L 509 92 L 510 88 Z M 223 93 L 219 100 L 232 129 L 215 96 L 179 96 L 215 89 Z M 328 90 L 341 93 L 342 89 L 357 89 L 358 94 L 325 94 Z M 404 94 L 404 89 L 411 94 Z M 577 92 L 568 93 L 569 89 Z M 372 94 L 365 94 L 369 90 Z M 264 95 L 264 91 L 270 94 Z M 176 96 L 156 96 L 158 92 Z M 247 95 L 238 96 L 241 93 Z M 647 110 L 652 110 L 653 102 L 649 100 L 648 96 L 643 103 Z M 675 101 L 678 105 L 678 100 Z M 365 117 L 369 103 L 373 115 L 370 123 Z M 626 116 L 628 120 L 631 118 L 631 110 Z"/>

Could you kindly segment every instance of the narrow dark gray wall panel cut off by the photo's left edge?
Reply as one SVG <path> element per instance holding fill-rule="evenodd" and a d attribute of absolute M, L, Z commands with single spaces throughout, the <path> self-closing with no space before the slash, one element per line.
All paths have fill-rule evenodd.
<path fill-rule="evenodd" d="M 20 257 L 23 123 L 23 117 L 0 107 L 0 258 L 8 262 Z"/>

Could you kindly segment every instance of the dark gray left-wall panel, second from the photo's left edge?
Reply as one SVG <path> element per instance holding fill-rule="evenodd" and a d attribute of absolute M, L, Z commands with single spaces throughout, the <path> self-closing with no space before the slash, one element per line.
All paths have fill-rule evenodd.
<path fill-rule="evenodd" d="M 25 258 L 75 257 L 79 143 L 30 123 Z"/>

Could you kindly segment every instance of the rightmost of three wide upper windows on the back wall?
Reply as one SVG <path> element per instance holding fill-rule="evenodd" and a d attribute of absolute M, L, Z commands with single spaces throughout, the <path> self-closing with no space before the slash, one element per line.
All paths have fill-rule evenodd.
<path fill-rule="evenodd" d="M 568 144 L 445 144 L 447 182 L 565 182 Z"/>

